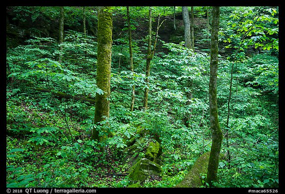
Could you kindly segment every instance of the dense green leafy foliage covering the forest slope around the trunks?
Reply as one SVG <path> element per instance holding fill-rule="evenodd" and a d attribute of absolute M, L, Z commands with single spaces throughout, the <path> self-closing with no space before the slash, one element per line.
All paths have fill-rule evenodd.
<path fill-rule="evenodd" d="M 18 22 L 18 26 L 7 24 L 10 26 L 7 32 L 11 29 L 20 32 L 22 28 L 37 33 L 17 40 L 7 33 L 6 185 L 128 187 L 134 184 L 129 176 L 116 174 L 126 174 L 130 168 L 123 162 L 123 150 L 126 140 L 136 138 L 136 130 L 142 127 L 150 135 L 145 137 L 141 150 L 145 150 L 152 134 L 161 141 L 162 176 L 139 184 L 175 187 L 195 160 L 211 148 L 209 53 L 197 44 L 192 51 L 185 48 L 184 42 L 177 44 L 158 38 L 150 67 L 148 109 L 144 110 L 147 22 L 142 22 L 142 18 L 147 17 L 148 7 L 130 7 L 134 72 L 129 66 L 126 7 L 114 7 L 110 116 L 102 121 L 108 122 L 102 126 L 113 135 L 103 145 L 106 152 L 100 152 L 102 145 L 90 140 L 94 104 L 36 89 L 89 99 L 95 99 L 96 93 L 103 94 L 96 85 L 97 8 L 86 8 L 85 37 L 82 7 L 65 7 L 63 55 L 62 63 L 58 63 L 58 32 L 47 33 L 33 25 L 28 28 L 28 23 L 55 22 L 59 8 L 7 7 L 14 13 L 13 21 Z M 194 7 L 197 21 L 206 20 L 205 10 L 210 8 Z M 179 12 L 181 7 L 176 9 L 176 14 Z M 158 13 L 170 18 L 173 7 L 153 7 L 153 20 L 157 20 Z M 224 52 L 218 62 L 218 116 L 223 134 L 228 131 L 229 137 L 229 147 L 224 138 L 221 153 L 227 155 L 229 150 L 231 161 L 219 162 L 214 187 L 279 186 L 278 24 L 278 7 L 221 8 L 219 50 Z M 201 29 L 195 31 L 196 36 L 204 32 L 205 22 L 195 25 Z M 58 25 L 53 28 L 58 30 Z M 203 44 L 209 43 L 204 35 L 200 37 Z M 226 128 L 232 67 L 233 93 Z M 131 112 L 133 85 L 136 99 Z M 189 91 L 191 99 L 186 96 Z M 190 117 L 188 127 L 186 117 Z M 201 175 L 204 180 L 205 176 Z"/>

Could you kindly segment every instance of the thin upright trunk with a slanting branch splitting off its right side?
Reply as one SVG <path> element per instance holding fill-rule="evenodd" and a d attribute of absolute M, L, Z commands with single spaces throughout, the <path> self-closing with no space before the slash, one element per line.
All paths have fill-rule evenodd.
<path fill-rule="evenodd" d="M 150 61 L 151 61 L 151 7 L 148 10 L 148 46 L 147 46 L 147 56 L 146 56 L 146 67 L 145 67 L 145 88 L 144 88 L 144 98 L 143 98 L 143 108 L 147 109 L 148 100 L 148 86 L 149 86 L 149 75 L 150 75 Z"/>

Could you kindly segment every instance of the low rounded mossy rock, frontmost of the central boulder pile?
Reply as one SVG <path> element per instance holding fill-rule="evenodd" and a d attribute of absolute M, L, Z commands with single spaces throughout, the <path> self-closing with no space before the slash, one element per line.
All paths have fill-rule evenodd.
<path fill-rule="evenodd" d="M 147 158 L 140 159 L 132 168 L 129 177 L 134 181 L 145 181 L 149 176 L 160 176 L 161 166 Z"/>

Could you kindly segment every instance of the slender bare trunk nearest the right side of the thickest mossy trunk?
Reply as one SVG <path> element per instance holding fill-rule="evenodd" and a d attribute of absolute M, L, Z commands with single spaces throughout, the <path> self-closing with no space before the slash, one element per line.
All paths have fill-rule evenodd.
<path fill-rule="evenodd" d="M 133 51 L 132 51 L 132 31 L 131 31 L 129 6 L 127 6 L 127 20 L 128 20 L 128 34 L 129 34 L 130 67 L 131 67 L 131 71 L 133 72 L 133 77 L 134 77 L 134 64 L 133 64 Z M 134 105 L 135 105 L 135 85 L 132 86 L 131 111 L 134 110 Z"/>

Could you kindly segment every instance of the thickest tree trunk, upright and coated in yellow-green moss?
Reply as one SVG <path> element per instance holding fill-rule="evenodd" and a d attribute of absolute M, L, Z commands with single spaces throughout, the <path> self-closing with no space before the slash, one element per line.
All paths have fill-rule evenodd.
<path fill-rule="evenodd" d="M 104 91 L 100 95 L 96 93 L 95 102 L 95 126 L 100 126 L 99 122 L 109 117 L 110 107 L 110 75 L 111 75 L 111 55 L 112 55 L 112 12 L 111 7 L 98 8 L 98 34 L 97 34 L 97 76 L 98 88 Z M 108 135 L 107 131 L 102 131 L 104 127 L 95 127 L 91 139 L 103 142 Z M 101 134 L 100 134 L 101 132 Z"/>

